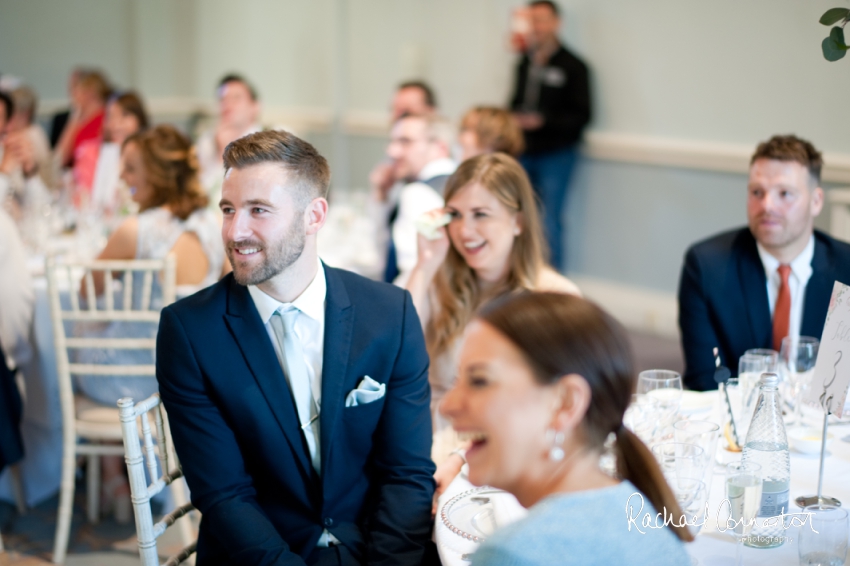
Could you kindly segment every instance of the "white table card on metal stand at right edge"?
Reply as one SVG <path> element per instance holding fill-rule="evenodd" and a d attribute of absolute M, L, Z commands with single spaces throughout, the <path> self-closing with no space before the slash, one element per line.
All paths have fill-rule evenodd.
<path fill-rule="evenodd" d="M 843 416 L 850 388 L 850 286 L 835 282 L 806 401 Z"/>

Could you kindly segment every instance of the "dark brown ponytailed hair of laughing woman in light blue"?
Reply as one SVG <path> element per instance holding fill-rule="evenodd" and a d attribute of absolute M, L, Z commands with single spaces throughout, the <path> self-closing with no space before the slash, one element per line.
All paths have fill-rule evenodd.
<path fill-rule="evenodd" d="M 593 303 L 559 293 L 521 293 L 487 303 L 478 315 L 524 354 L 535 379 L 549 385 L 577 374 L 590 385 L 582 420 L 587 447 L 601 451 L 610 433 L 617 436 L 617 471 L 638 488 L 656 511 L 682 522 L 682 511 L 655 457 L 623 426 L 636 375 L 625 329 Z M 670 525 L 690 542 L 687 527 Z"/>

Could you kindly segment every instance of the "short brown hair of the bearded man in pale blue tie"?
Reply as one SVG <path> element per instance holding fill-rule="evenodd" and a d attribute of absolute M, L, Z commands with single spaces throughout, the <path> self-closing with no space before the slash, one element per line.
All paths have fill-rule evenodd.
<path fill-rule="evenodd" d="M 283 130 L 248 134 L 224 148 L 224 168 L 242 169 L 260 163 L 279 164 L 303 187 L 297 199 L 306 205 L 327 198 L 331 169 L 328 161 L 311 144 Z"/>

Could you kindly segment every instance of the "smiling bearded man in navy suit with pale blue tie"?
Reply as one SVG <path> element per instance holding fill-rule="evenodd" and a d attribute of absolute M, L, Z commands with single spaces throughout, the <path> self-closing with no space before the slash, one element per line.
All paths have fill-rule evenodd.
<path fill-rule="evenodd" d="M 428 356 L 410 294 L 320 262 L 330 172 L 286 132 L 224 153 L 233 273 L 166 308 L 157 378 L 198 564 L 398 564 L 430 542 Z"/>

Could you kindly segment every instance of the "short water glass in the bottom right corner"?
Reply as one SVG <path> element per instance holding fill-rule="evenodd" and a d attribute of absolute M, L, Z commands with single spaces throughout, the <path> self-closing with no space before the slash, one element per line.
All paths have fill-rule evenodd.
<path fill-rule="evenodd" d="M 816 504 L 803 513 L 809 513 L 809 519 L 800 527 L 801 566 L 842 566 L 847 557 L 847 510 Z"/>

